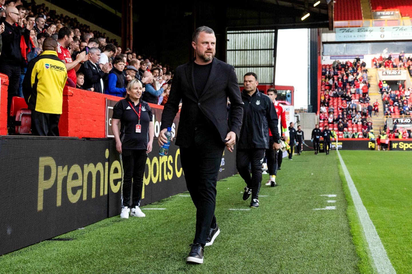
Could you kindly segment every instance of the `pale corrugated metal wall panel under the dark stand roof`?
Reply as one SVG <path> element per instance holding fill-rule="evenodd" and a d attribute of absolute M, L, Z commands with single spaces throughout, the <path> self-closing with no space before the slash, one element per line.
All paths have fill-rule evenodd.
<path fill-rule="evenodd" d="M 239 84 L 254 72 L 260 84 L 273 84 L 275 30 L 227 31 L 226 60 L 234 66 Z"/>

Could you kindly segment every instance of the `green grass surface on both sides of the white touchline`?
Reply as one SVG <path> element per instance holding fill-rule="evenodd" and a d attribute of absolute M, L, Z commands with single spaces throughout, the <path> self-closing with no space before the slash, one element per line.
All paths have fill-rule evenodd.
<path fill-rule="evenodd" d="M 402 203 L 402 212 L 397 207 L 408 193 L 410 198 L 407 180 L 388 182 L 374 171 L 362 173 L 372 176 L 370 180 L 355 176 L 361 174 L 356 161 L 365 171 L 368 159 L 382 163 L 374 157 L 388 159 L 391 153 L 341 152 L 393 266 L 398 273 L 408 273 L 410 257 L 405 253 L 412 234 L 405 214 L 411 202 Z M 395 172 L 377 163 L 385 175 Z M 250 199 L 242 200 L 245 184 L 239 175 L 218 182 L 216 217 L 221 233 L 205 248 L 203 265 L 185 262 L 194 237 L 195 208 L 190 197 L 177 195 L 143 207 L 145 218 L 115 216 L 57 237 L 72 241 L 44 241 L 1 256 L 0 273 L 374 273 L 335 152 L 304 152 L 293 161 L 283 159 L 276 178 L 279 186 L 265 186 L 267 179 L 264 175 L 260 207 L 252 209 Z M 378 191 L 379 187 L 384 189 Z M 322 210 L 330 206 L 335 209 Z M 144 210 L 148 207 L 166 210 Z M 409 237 L 409 245 L 399 250 L 402 237 Z"/>

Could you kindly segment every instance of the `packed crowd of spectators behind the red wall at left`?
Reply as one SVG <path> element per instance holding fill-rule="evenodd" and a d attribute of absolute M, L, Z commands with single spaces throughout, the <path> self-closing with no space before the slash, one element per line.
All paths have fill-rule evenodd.
<path fill-rule="evenodd" d="M 23 97 L 28 63 L 42 53 L 47 37 L 58 42 L 56 51 L 66 65 L 70 87 L 124 97 L 127 83 L 137 78 L 144 87 L 143 100 L 164 105 L 169 96 L 172 74 L 166 66 L 130 48 L 122 51 L 106 33 L 34 0 L 0 0 L 0 34 L 0 73 L 9 77 L 8 111 L 12 97 Z"/>

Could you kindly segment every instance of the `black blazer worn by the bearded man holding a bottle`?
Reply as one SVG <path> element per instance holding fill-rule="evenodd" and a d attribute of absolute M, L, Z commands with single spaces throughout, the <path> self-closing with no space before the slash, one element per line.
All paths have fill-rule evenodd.
<path fill-rule="evenodd" d="M 194 87 L 193 63 L 194 60 L 176 68 L 169 98 L 164 105 L 160 129 L 171 127 L 179 111 L 180 100 L 182 100 L 176 145 L 190 146 L 199 109 L 215 125 L 222 141 L 225 140 L 229 131 L 233 131 L 239 139 L 243 101 L 234 67 L 213 58 L 208 81 L 198 97 Z M 226 108 L 227 97 L 230 100 L 229 122 Z"/>

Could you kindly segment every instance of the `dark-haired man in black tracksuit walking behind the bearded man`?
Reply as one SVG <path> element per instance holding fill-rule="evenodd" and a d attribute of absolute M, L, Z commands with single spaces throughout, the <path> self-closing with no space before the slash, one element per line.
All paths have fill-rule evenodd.
<path fill-rule="evenodd" d="M 278 115 L 269 96 L 259 92 L 258 76 L 248 72 L 243 76 L 242 91 L 243 122 L 240 130 L 239 143 L 236 152 L 236 168 L 239 175 L 245 180 L 246 187 L 243 200 L 247 200 L 252 194 L 250 207 L 258 207 L 260 183 L 262 181 L 262 163 L 265 157 L 265 149 L 269 144 L 269 128 L 274 139 L 274 149 L 281 147 L 278 130 Z M 249 164 L 252 169 L 250 177 Z"/>

